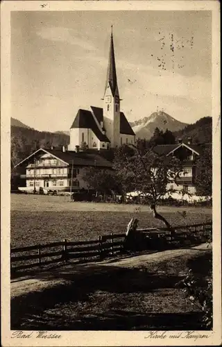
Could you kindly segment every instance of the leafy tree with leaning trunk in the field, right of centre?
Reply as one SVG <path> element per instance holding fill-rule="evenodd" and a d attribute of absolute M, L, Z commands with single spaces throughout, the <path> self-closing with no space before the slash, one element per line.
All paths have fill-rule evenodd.
<path fill-rule="evenodd" d="M 146 155 L 143 155 L 138 146 L 133 146 L 133 153 L 123 149 L 116 151 L 114 169 L 121 180 L 124 192 L 136 191 L 145 194 L 153 210 L 153 216 L 164 221 L 167 228 L 172 230 L 169 222 L 157 213 L 156 206 L 169 192 L 167 186 L 177 182 L 182 171 L 182 162 L 173 156 L 157 155 L 153 149 L 149 149 Z"/>

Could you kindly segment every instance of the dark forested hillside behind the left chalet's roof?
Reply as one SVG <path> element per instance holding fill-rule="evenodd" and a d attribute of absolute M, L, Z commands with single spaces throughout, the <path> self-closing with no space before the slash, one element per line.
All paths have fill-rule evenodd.
<path fill-rule="evenodd" d="M 11 164 L 15 166 L 40 147 L 62 146 L 69 144 L 65 133 L 49 133 L 32 128 L 11 126 Z"/>

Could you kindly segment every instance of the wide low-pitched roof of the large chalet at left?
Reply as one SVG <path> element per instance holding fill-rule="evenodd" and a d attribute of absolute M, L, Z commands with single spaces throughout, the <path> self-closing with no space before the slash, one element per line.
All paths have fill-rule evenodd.
<path fill-rule="evenodd" d="M 65 162 L 65 164 L 72 164 L 72 161 L 74 162 L 74 165 L 83 166 L 83 167 L 107 167 L 112 168 L 112 162 L 106 160 L 103 158 L 103 156 L 96 154 L 96 153 L 87 153 L 87 152 L 75 152 L 75 151 L 60 151 L 56 149 L 38 149 L 31 155 L 29 155 L 27 158 L 22 160 L 22 162 L 19 162 L 15 167 L 21 165 L 22 163 L 31 160 L 31 158 L 40 152 L 43 153 L 49 153 L 53 155 L 54 158 L 58 160 L 62 160 L 62 162 Z"/>

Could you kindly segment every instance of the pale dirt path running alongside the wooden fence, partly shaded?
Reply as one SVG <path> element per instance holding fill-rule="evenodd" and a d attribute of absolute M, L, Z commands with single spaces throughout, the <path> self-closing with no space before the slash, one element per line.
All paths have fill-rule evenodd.
<path fill-rule="evenodd" d="M 58 285 L 68 285 L 69 282 L 76 282 L 80 278 L 101 275 L 103 273 L 113 273 L 114 271 L 121 271 L 123 269 L 144 268 L 148 264 L 158 264 L 158 262 L 163 262 L 173 257 L 196 255 L 201 250 L 204 251 L 206 249 L 207 244 L 201 244 L 193 248 L 135 255 L 121 259 L 105 260 L 103 262 L 78 265 L 67 264 L 57 269 L 37 273 L 32 278 L 30 276 L 24 276 L 11 280 L 10 294 L 13 299 L 18 296 L 26 296 L 34 292 L 44 291 L 45 289 L 52 289 Z"/>

